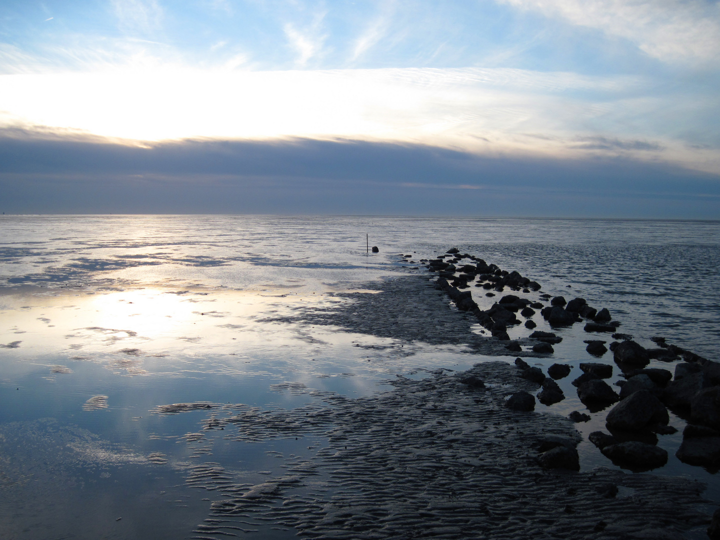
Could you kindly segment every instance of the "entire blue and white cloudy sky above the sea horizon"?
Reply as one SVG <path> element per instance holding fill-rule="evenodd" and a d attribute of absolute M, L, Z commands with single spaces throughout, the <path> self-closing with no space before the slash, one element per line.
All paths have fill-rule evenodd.
<path fill-rule="evenodd" d="M 0 210 L 720 219 L 720 2 L 5 0 Z"/>

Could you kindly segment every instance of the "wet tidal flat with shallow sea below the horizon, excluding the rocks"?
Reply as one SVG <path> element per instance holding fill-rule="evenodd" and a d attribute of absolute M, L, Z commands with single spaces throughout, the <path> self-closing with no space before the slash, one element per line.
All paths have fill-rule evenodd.
<path fill-rule="evenodd" d="M 585 341 L 652 349 L 662 336 L 718 360 L 717 223 L 9 218 L 8 538 L 707 537 L 719 485 L 714 467 L 675 456 L 688 416 L 671 408 L 677 432 L 644 434 L 667 462 L 634 472 L 590 442 L 615 404 L 588 407 L 572 381 L 580 364 L 606 364 L 600 380 L 621 392 L 613 351 Z M 365 253 L 366 230 L 379 253 Z M 585 332 L 585 319 L 554 327 L 541 308 L 516 312 L 535 328 L 498 339 L 428 271 L 455 246 L 541 285 L 461 280 L 477 310 L 510 294 L 543 307 L 582 297 L 631 340 Z M 534 351 L 534 331 L 561 340 Z M 569 366 L 552 379 L 563 399 L 506 407 L 544 390 L 518 357 L 546 379 Z M 689 363 L 656 355 L 645 368 Z M 542 464 L 567 444 L 578 470 Z"/>

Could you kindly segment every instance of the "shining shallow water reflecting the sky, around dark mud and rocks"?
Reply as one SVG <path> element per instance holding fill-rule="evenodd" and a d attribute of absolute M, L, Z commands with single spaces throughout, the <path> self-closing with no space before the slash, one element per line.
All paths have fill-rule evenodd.
<path fill-rule="evenodd" d="M 644 345 L 660 335 L 718 359 L 720 222 L 3 216 L 0 229 L 0 487 L 12 495 L 0 521 L 9 538 L 192 537 L 213 495 L 188 485 L 190 467 L 222 464 L 233 482 L 254 485 L 282 469 L 277 456 L 325 444 L 234 441 L 202 430 L 207 410 L 163 415 L 158 406 L 297 408 L 327 392 L 367 396 L 390 390 L 385 381 L 397 375 L 498 359 L 460 345 L 279 322 L 333 307 L 336 293 L 382 276 L 429 279 L 399 253 L 418 261 L 457 246 L 536 279 L 542 292 L 608 307 L 620 331 Z M 380 253 L 366 253 L 366 234 Z M 472 290 L 481 307 L 497 300 Z M 549 330 L 539 314 L 534 320 Z M 582 325 L 559 335 L 552 358 L 528 362 L 574 366 L 559 381 L 566 400 L 548 412 L 587 412 L 570 381 L 577 364 L 593 361 L 582 343 L 590 336 Z M 600 361 L 612 364 L 610 354 Z M 582 467 L 614 467 L 586 440 L 604 421 L 603 412 L 592 416 L 577 425 Z M 682 429 L 683 420 L 671 425 Z M 681 440 L 660 436 L 670 461 L 655 473 L 699 478 L 720 500 L 715 474 L 675 458 Z M 98 516 L 91 527 L 89 512 Z"/>

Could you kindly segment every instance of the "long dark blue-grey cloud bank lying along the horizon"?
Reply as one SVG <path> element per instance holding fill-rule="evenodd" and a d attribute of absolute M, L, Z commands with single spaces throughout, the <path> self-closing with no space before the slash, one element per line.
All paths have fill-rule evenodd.
<path fill-rule="evenodd" d="M 361 141 L 0 132 L 0 211 L 720 218 L 720 176 L 624 158 L 482 157 Z"/>

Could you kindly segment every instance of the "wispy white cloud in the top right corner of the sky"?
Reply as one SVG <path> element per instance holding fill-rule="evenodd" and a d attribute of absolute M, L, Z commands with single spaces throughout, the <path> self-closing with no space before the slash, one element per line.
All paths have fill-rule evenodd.
<path fill-rule="evenodd" d="M 660 60 L 716 64 L 720 58 L 720 4 L 716 1 L 500 1 L 622 37 Z"/>

